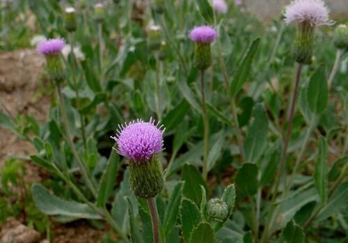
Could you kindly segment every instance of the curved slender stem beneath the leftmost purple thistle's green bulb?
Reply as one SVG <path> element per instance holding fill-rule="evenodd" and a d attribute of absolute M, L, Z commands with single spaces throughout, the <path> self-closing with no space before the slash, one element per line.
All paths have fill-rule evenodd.
<path fill-rule="evenodd" d="M 63 95 L 61 93 L 61 87 L 60 86 L 56 86 L 56 90 L 57 90 L 57 94 L 58 94 L 58 99 L 59 99 L 59 105 L 61 107 L 61 116 L 62 116 L 62 120 L 63 120 L 63 125 L 65 127 L 65 133 L 66 133 L 66 137 L 69 143 L 69 146 L 72 150 L 72 155 L 74 155 L 74 158 L 77 161 L 77 164 L 79 165 L 79 168 L 81 170 L 82 176 L 86 182 L 86 185 L 88 187 L 88 189 L 90 189 L 90 192 L 93 194 L 93 196 L 95 198 L 97 198 L 97 190 L 95 189 L 92 181 L 90 180 L 90 175 L 85 167 L 85 165 L 83 164 L 83 162 L 81 162 L 81 159 L 79 157 L 79 154 L 77 153 L 77 150 L 75 148 L 74 142 L 72 141 L 72 137 L 70 135 L 70 130 L 69 130 L 69 125 L 68 125 L 68 118 L 67 118 L 67 113 L 65 110 L 65 104 L 64 104 L 64 100 L 63 100 Z"/>

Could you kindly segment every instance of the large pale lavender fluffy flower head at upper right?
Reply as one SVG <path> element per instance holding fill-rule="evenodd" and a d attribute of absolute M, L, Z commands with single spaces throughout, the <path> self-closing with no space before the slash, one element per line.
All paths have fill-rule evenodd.
<path fill-rule="evenodd" d="M 332 25 L 329 8 L 322 0 L 294 0 L 285 8 L 285 23 L 309 22 L 311 26 Z"/>

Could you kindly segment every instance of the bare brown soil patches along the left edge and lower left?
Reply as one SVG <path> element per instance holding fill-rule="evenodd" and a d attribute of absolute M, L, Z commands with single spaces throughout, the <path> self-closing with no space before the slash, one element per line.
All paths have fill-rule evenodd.
<path fill-rule="evenodd" d="M 29 114 L 40 123 L 45 122 L 52 97 L 42 92 L 40 76 L 45 65 L 45 58 L 34 50 L 24 49 L 0 54 L 0 110 L 15 118 L 17 114 Z M 41 88 L 40 88 L 41 87 Z M 0 170 L 9 156 L 21 157 L 35 153 L 35 148 L 26 141 L 17 138 L 12 132 L 0 127 Z M 40 182 L 46 178 L 42 168 L 24 159 L 28 183 Z M 2 233 L 13 228 L 13 220 L 0 225 Z M 23 228 L 24 226 L 20 226 Z M 95 243 L 103 235 L 101 230 L 91 228 L 85 221 L 52 226 L 54 243 Z M 40 237 L 45 238 L 45 235 Z M 24 242 L 25 243 L 25 242 Z"/>

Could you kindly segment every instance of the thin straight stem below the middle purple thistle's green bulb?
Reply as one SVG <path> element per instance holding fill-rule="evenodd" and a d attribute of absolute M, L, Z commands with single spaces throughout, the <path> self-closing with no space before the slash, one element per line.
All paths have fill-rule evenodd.
<path fill-rule="evenodd" d="M 202 92 L 202 111 L 203 111 L 203 179 L 207 180 L 208 175 L 208 155 L 209 155 L 209 120 L 207 116 L 207 102 L 205 100 L 205 70 L 200 70 L 200 88 Z"/>

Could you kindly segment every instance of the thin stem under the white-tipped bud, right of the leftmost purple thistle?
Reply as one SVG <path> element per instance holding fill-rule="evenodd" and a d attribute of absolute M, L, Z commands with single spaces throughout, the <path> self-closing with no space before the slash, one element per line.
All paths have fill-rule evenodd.
<path fill-rule="evenodd" d="M 79 100 L 80 100 L 80 95 L 79 95 L 79 87 L 77 86 L 77 78 L 76 78 L 76 70 L 75 70 L 75 63 L 74 61 L 77 61 L 75 53 L 74 53 L 74 38 L 72 36 L 72 32 L 69 32 L 69 38 L 70 38 L 70 54 L 72 56 L 71 58 L 71 72 L 72 72 L 72 81 L 74 82 L 74 90 L 76 93 L 76 107 L 77 111 L 79 111 Z M 84 149 L 87 149 L 87 139 L 86 139 L 86 128 L 85 128 L 85 123 L 84 123 L 84 116 L 82 116 L 81 113 L 79 113 L 80 117 L 80 123 L 81 123 L 81 133 L 82 133 L 82 140 L 84 141 Z"/>

